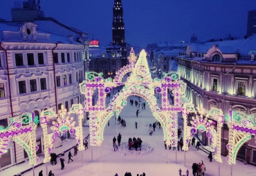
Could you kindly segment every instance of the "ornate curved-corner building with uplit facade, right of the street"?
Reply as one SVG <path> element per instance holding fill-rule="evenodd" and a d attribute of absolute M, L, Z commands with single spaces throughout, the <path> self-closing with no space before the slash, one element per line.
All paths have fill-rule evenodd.
<path fill-rule="evenodd" d="M 226 115 L 228 110 L 239 110 L 253 115 L 256 121 L 256 36 L 247 39 L 214 41 L 203 44 L 191 43 L 186 52 L 177 57 L 178 72 L 188 88 L 185 96 L 196 110 L 209 112 L 219 108 Z M 188 115 L 188 121 L 194 114 Z M 214 119 L 210 116 L 209 119 Z M 214 125 L 213 135 L 217 123 Z M 207 146 L 212 141 L 205 133 L 197 132 Z M 228 155 L 228 127 L 221 133 L 221 154 Z M 237 153 L 237 159 L 256 164 L 256 144 L 252 137 Z"/>

